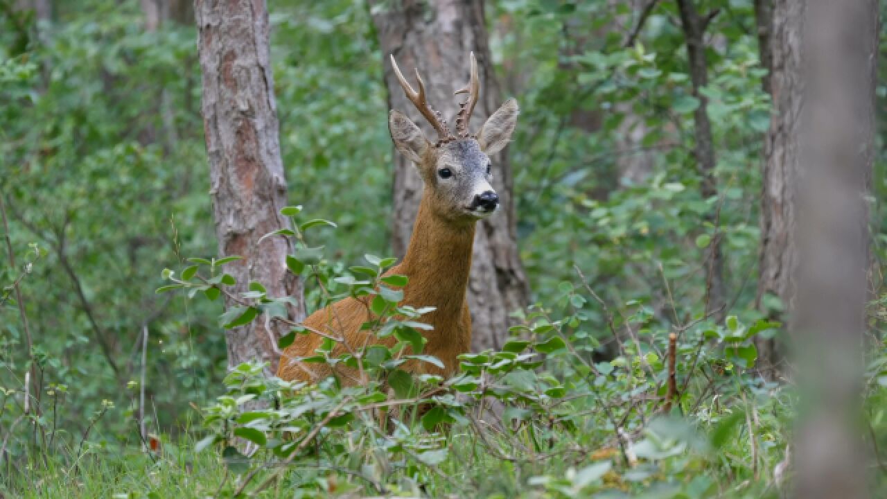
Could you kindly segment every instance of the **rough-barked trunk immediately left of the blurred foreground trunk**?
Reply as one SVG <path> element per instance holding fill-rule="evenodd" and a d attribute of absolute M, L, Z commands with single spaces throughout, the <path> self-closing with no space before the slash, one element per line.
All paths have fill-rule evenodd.
<path fill-rule="evenodd" d="M 757 5 L 761 4 L 761 5 Z M 765 90 L 770 91 L 773 110 L 770 130 L 764 143 L 764 175 L 761 193 L 761 246 L 758 257 L 757 308 L 772 319 L 785 321 L 791 316 L 794 287 L 793 265 L 797 263 L 794 242 L 795 200 L 799 168 L 798 138 L 801 115 L 801 21 L 803 5 L 790 0 L 776 0 L 767 8 L 758 0 L 758 44 L 761 61 L 769 61 L 770 75 Z M 765 20 L 769 10 L 771 19 Z M 761 36 L 763 31 L 769 35 Z M 781 310 L 772 309 L 767 297 L 781 301 Z M 784 357 L 773 338 L 757 337 L 757 365 L 760 372 L 775 378 Z"/>

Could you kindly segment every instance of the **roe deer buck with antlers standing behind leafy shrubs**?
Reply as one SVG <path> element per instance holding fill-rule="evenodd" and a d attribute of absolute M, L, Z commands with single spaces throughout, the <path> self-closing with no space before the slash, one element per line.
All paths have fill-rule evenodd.
<path fill-rule="evenodd" d="M 419 91 L 414 91 L 391 56 L 391 65 L 406 96 L 439 136 L 436 143 L 432 143 L 402 113 L 392 110 L 389 115 L 391 139 L 397 150 L 415 163 L 425 187 L 404 260 L 386 275 L 403 274 L 409 278 L 403 289 L 401 305 L 436 307 L 420 319 L 434 328 L 422 331 L 427 339 L 423 353 L 434 355 L 444 366 L 438 368 L 416 360 L 401 366 L 413 373 L 451 376 L 459 367 L 457 356 L 471 347 L 471 316 L 465 295 L 475 223 L 491 216 L 498 208 L 498 195 L 491 186 L 489 156 L 506 146 L 517 121 L 517 102 L 510 99 L 483 123 L 475 136 L 471 135 L 468 121 L 477 103 L 480 81 L 473 52 L 470 59 L 470 82 L 456 91 L 457 94 L 467 93 L 468 98 L 459 104 L 456 135 L 453 135 L 442 115 L 428 104 L 418 69 Z M 360 299 L 348 297 L 312 313 L 303 324 L 309 331 L 343 338 L 354 350 L 373 343 L 394 345 L 396 340 L 393 337 L 367 337 L 373 333 L 360 329 L 360 326 L 371 320 L 373 315 L 369 307 Z M 327 364 L 300 361 L 300 358 L 315 355 L 323 339 L 313 332 L 297 337 L 283 352 L 278 376 L 290 381 L 318 381 L 333 374 Z M 334 347 L 334 355 L 343 352 L 348 352 L 344 345 Z M 343 384 L 361 382 L 357 373 L 349 368 L 336 368 L 335 374 L 341 377 Z"/>

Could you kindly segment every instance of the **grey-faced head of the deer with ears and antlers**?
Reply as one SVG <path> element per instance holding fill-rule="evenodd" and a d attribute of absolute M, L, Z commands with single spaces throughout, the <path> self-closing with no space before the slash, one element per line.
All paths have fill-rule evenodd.
<path fill-rule="evenodd" d="M 391 139 L 397 150 L 419 169 L 425 182 L 425 197 L 434 213 L 455 223 L 487 218 L 498 208 L 498 194 L 491 186 L 490 156 L 506 147 L 518 114 L 517 101 L 509 99 L 483 123 L 476 135 L 468 131 L 468 121 L 481 86 L 474 52 L 470 58 L 471 79 L 465 88 L 455 92 L 467 93 L 468 98 L 459 104 L 456 135 L 453 135 L 443 116 L 428 104 L 419 70 L 416 70 L 419 91 L 414 91 L 397 67 L 394 55 L 391 56 L 391 66 L 406 97 L 438 135 L 437 141 L 432 143 L 409 118 L 392 110 L 389 115 Z"/>

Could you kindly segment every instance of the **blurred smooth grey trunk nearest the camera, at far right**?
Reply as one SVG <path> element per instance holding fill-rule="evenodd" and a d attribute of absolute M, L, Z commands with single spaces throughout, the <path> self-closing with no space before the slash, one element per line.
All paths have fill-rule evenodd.
<path fill-rule="evenodd" d="M 790 330 L 803 402 L 796 496 L 854 499 L 867 497 L 870 465 L 857 426 L 879 5 L 808 0 L 803 8 L 801 169 L 787 186 L 796 189 L 797 289 Z"/>

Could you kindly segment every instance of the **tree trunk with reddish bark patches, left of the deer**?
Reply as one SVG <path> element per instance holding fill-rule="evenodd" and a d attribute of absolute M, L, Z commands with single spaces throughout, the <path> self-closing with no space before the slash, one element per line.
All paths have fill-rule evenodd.
<path fill-rule="evenodd" d="M 290 244 L 264 234 L 289 227 L 279 214 L 287 202 L 280 159 L 277 109 L 269 61 L 268 12 L 263 0 L 196 0 L 200 68 L 203 72 L 203 123 L 216 218 L 219 253 L 239 255 L 225 266 L 237 280 L 234 294 L 261 282 L 269 297 L 294 297 L 289 313 L 304 317 L 302 282 L 287 272 Z M 226 305 L 232 306 L 228 299 Z M 248 360 L 277 371 L 277 340 L 287 331 L 266 329 L 261 319 L 227 332 L 228 365 Z"/>

